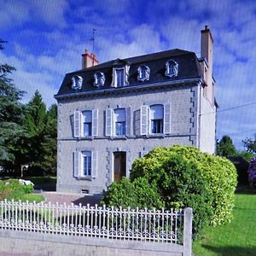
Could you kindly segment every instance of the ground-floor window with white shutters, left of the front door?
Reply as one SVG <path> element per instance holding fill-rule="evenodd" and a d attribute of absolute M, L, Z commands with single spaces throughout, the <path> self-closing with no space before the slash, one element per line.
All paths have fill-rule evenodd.
<path fill-rule="evenodd" d="M 74 151 L 73 176 L 88 178 L 97 176 L 97 151 Z"/>

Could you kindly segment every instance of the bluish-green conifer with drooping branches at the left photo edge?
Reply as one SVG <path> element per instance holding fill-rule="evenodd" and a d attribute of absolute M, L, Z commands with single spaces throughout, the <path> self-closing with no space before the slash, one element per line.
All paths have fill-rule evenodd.
<path fill-rule="evenodd" d="M 0 49 L 6 43 L 0 39 Z M 13 145 L 24 133 L 24 105 L 20 103 L 24 91 L 20 91 L 12 84 L 8 75 L 15 71 L 15 67 L 0 64 L 0 165 L 14 163 Z"/>

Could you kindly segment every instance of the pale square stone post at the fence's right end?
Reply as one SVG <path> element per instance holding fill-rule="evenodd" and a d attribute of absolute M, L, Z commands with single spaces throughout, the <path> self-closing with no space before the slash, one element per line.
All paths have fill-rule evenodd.
<path fill-rule="evenodd" d="M 192 255 L 192 218 L 192 208 L 186 208 L 184 211 L 183 256 Z"/>

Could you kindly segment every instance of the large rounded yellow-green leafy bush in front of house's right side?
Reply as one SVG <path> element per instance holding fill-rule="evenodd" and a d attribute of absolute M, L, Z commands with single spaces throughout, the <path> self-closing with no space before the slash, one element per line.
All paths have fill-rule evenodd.
<path fill-rule="evenodd" d="M 230 222 L 232 217 L 231 212 L 234 206 L 234 192 L 237 183 L 236 168 L 230 160 L 215 157 L 207 153 L 201 153 L 198 148 L 189 146 L 175 145 L 172 148 L 154 148 L 154 150 L 149 152 L 144 158 L 135 160 L 131 169 L 131 179 L 135 180 L 137 177 L 146 177 L 150 179 L 151 176 L 154 177 L 154 173 L 166 168 L 166 162 L 169 159 L 172 159 L 174 154 L 181 155 L 184 160 L 190 162 L 193 167 L 191 173 L 194 172 L 195 174 L 195 176 L 192 175 L 192 180 L 189 180 L 189 183 L 186 181 L 187 185 L 184 183 L 179 189 L 186 188 L 186 186 L 192 186 L 197 193 L 200 191 L 200 188 L 197 185 L 199 184 L 197 183 L 197 180 L 200 177 L 204 180 L 203 186 L 206 186 L 204 189 L 205 200 L 212 209 L 210 212 L 208 212 L 208 207 L 204 210 L 207 212 L 206 216 L 209 215 L 210 224 L 217 225 Z M 178 161 L 177 165 L 179 165 Z M 179 170 L 178 167 L 176 169 L 177 171 Z M 175 175 L 175 172 L 173 172 L 173 177 L 171 178 L 177 180 L 176 183 L 178 184 L 181 182 L 181 177 L 180 174 L 179 176 Z M 177 186 L 177 184 L 175 186 Z M 159 183 L 159 187 L 161 189 L 161 183 Z M 191 198 L 192 201 L 195 201 L 195 195 L 196 194 L 194 193 L 193 200 Z M 197 199 L 203 200 L 200 198 Z M 183 205 L 181 207 L 187 206 Z M 189 207 L 192 207 L 192 205 Z M 195 222 L 196 221 L 195 218 Z"/>

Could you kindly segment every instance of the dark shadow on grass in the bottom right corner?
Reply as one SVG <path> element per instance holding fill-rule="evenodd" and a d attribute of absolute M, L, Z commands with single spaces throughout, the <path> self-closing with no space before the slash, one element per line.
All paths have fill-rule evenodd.
<path fill-rule="evenodd" d="M 212 247 L 202 245 L 207 250 L 213 253 L 218 253 L 219 256 L 253 256 L 256 255 L 256 247 Z"/>

